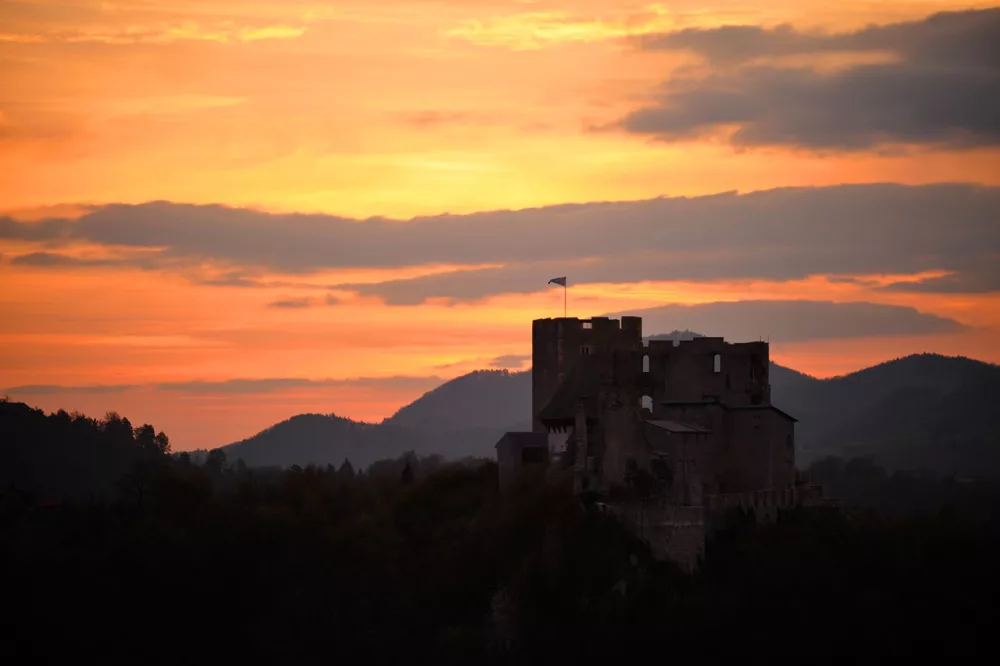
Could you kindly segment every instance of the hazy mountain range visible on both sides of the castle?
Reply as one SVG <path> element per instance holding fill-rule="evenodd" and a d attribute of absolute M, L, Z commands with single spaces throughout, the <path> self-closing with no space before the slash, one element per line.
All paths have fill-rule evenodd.
<path fill-rule="evenodd" d="M 689 331 L 674 335 L 694 336 Z M 935 354 L 831 379 L 771 364 L 773 403 L 799 419 L 801 467 L 827 455 L 871 456 L 889 468 L 1000 474 L 1000 368 Z M 507 430 L 530 428 L 531 372 L 477 371 L 429 391 L 379 424 L 307 414 L 226 447 L 248 465 L 364 467 L 409 450 L 490 456 Z"/>

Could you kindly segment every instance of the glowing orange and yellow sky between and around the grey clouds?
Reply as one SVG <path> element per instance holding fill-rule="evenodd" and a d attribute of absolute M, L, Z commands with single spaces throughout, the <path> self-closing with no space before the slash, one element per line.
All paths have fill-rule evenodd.
<path fill-rule="evenodd" d="M 720 132 L 667 142 L 595 129 L 648 104 L 664 81 L 702 66 L 697 54 L 639 49 L 631 37 L 783 23 L 836 33 L 988 6 L 935 0 L 5 2 L 0 211 L 38 223 L 77 218 L 92 210 L 88 206 L 172 201 L 405 219 L 840 183 L 1000 186 L 995 145 L 734 147 Z M 807 60 L 816 71 L 836 72 L 891 57 L 827 53 Z M 327 267 L 295 275 L 257 270 L 255 278 L 266 285 L 253 289 L 199 282 L 190 264 L 175 270 L 10 260 L 51 249 L 0 235 L 0 387 L 136 385 L 11 397 L 47 409 L 116 409 L 135 422 L 153 421 L 181 449 L 224 444 L 302 411 L 387 416 L 437 381 L 427 378 L 530 353 L 530 320 L 561 309 L 561 293 L 544 284 L 536 293 L 457 304 L 390 305 L 340 290 L 333 292 L 336 307 L 318 307 L 330 285 L 482 266 L 460 256 L 447 264 Z M 101 260 L 123 250 L 81 241 L 66 252 Z M 198 269 L 231 268 L 212 261 Z M 559 264 L 552 271 L 569 272 Z M 828 279 L 823 271 L 794 279 L 592 282 L 571 290 L 570 309 L 587 316 L 749 299 L 899 305 L 965 328 L 775 341 L 772 358 L 820 376 L 920 351 L 1000 361 L 1000 293 L 881 288 L 920 278 L 913 273 L 854 275 L 863 278 L 855 282 Z M 269 307 L 276 302 L 302 307 Z M 234 378 L 391 377 L 424 379 L 239 393 L 154 388 Z"/>

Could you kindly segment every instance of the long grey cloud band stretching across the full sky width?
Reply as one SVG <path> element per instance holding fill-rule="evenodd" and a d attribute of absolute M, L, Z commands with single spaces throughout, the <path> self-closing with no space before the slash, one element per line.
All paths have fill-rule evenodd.
<path fill-rule="evenodd" d="M 375 284 L 328 284 L 390 303 L 476 300 L 574 284 L 792 280 L 947 271 L 995 275 L 1000 188 L 892 184 L 550 206 L 403 222 L 269 214 L 157 202 L 77 221 L 0 221 L 0 238 L 104 245 L 142 268 L 308 274 L 342 268 L 481 269 Z M 46 237 L 48 233 L 48 237 Z M 129 255 L 129 252 L 135 256 Z M 60 260 L 35 258 L 36 263 Z M 224 278 L 223 278 L 224 279 Z"/>

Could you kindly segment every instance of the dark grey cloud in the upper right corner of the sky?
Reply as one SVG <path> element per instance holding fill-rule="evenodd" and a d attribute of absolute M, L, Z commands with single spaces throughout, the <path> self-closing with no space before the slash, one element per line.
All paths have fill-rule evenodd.
<path fill-rule="evenodd" d="M 674 141 L 735 127 L 737 146 L 866 149 L 889 144 L 1000 145 L 1000 9 L 936 14 L 854 33 L 727 26 L 645 36 L 715 66 L 663 84 L 657 100 L 619 123 Z M 896 60 L 822 73 L 760 59 L 888 52 Z"/>

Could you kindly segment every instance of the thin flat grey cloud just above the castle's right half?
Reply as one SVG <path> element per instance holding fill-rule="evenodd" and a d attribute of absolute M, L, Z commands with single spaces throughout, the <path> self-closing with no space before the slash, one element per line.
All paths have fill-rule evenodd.
<path fill-rule="evenodd" d="M 665 305 L 608 315 L 642 317 L 646 335 L 693 330 L 729 340 L 802 342 L 958 333 L 959 322 L 914 308 L 878 303 L 827 301 L 738 301 Z"/>

